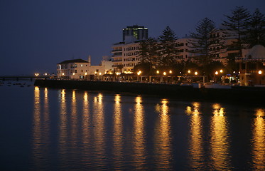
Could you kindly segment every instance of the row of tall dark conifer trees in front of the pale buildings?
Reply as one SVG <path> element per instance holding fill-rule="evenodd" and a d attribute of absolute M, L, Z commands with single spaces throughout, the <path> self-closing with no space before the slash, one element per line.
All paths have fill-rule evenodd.
<path fill-rule="evenodd" d="M 225 45 L 225 40 L 232 38 L 232 44 Z M 200 68 L 203 73 L 211 73 L 209 68 L 222 67 L 220 53 L 233 49 L 238 53 L 226 56 L 227 70 L 234 71 L 237 67 L 235 57 L 242 57 L 242 49 L 252 48 L 256 44 L 265 46 L 265 17 L 259 9 L 250 14 L 243 6 L 237 6 L 232 13 L 225 15 L 222 29 L 215 27 L 215 22 L 205 18 L 195 26 L 195 32 L 190 33 L 188 46 L 190 53 L 196 53 L 192 61 L 178 59 L 178 40 L 174 31 L 166 27 L 158 38 L 148 38 L 141 41 L 139 57 L 141 63 L 136 68 L 147 67 L 152 74 L 156 69 L 170 68 L 181 71 L 189 66 Z M 142 68 L 143 68 L 142 67 Z"/>

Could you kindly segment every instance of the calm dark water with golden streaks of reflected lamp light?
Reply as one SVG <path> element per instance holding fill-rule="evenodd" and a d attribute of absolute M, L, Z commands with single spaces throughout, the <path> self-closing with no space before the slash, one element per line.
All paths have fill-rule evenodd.
<path fill-rule="evenodd" d="M 265 170 L 265 108 L 0 86 L 1 170 Z"/>

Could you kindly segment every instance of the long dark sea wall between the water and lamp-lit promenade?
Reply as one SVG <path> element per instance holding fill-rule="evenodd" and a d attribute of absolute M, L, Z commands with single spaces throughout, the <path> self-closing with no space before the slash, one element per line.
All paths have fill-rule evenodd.
<path fill-rule="evenodd" d="M 36 80 L 35 86 L 47 88 L 65 88 L 109 91 L 115 93 L 136 93 L 159 95 L 179 100 L 215 100 L 227 102 L 244 102 L 264 104 L 265 88 L 232 87 L 227 88 L 193 88 L 175 84 L 126 83 L 108 81 L 71 81 L 71 80 Z"/>

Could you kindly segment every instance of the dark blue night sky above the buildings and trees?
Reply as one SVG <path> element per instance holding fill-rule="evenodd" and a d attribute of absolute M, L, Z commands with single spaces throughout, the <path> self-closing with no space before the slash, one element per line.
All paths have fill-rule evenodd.
<path fill-rule="evenodd" d="M 0 0 L 0 76 L 53 73 L 88 55 L 98 65 L 126 26 L 146 26 L 151 37 L 170 26 L 181 38 L 205 17 L 220 26 L 235 6 L 265 14 L 264 0 Z"/>

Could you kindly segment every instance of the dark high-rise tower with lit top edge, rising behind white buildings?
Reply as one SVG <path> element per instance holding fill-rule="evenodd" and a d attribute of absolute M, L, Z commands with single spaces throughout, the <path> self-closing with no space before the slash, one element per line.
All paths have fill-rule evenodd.
<path fill-rule="evenodd" d="M 145 28 L 144 26 L 127 26 L 126 28 L 123 28 L 122 32 L 122 41 L 125 41 L 126 36 L 132 36 L 136 38 L 136 40 L 143 40 L 148 38 L 148 28 Z"/>

